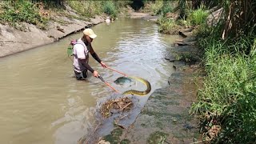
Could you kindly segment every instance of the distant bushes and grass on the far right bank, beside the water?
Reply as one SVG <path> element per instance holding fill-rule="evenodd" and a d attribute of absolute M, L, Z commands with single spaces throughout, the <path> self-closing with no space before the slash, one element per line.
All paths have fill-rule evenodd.
<path fill-rule="evenodd" d="M 196 10 L 180 10 L 184 11 L 186 15 L 184 18 L 182 18 L 177 14 L 177 10 L 181 9 L 178 8 L 178 3 L 180 2 L 161 0 L 155 2 L 150 1 L 145 4 L 146 6 L 142 11 L 153 11 L 153 15 L 160 15 L 158 18 L 158 30 L 164 34 L 178 34 L 178 29 L 180 29 L 180 26 L 191 27 L 206 25 L 206 18 L 209 15 L 209 12 L 204 8 L 203 5 L 199 6 L 199 8 Z"/>

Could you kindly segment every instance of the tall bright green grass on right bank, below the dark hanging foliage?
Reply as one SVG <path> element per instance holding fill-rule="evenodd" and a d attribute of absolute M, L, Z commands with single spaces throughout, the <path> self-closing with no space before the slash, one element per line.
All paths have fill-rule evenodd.
<path fill-rule="evenodd" d="M 202 114 L 206 140 L 221 143 L 256 141 L 256 40 L 222 41 L 209 37 L 205 48 L 206 78 L 191 110 Z M 250 43 L 250 53 L 244 49 Z M 207 116 L 208 115 L 208 116 Z M 210 130 L 219 128 L 213 137 Z"/>

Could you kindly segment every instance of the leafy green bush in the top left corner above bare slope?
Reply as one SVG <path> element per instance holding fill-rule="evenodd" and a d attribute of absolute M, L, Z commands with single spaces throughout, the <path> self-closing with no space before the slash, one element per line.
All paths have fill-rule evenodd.
<path fill-rule="evenodd" d="M 44 28 L 48 18 L 39 13 L 38 7 L 26 0 L 0 2 L 0 20 L 15 26 L 18 22 L 28 22 Z"/>

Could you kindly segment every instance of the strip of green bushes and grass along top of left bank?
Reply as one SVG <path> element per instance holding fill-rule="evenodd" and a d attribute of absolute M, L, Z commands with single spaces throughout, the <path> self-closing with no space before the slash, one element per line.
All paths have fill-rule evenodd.
<path fill-rule="evenodd" d="M 0 22 L 16 26 L 20 22 L 27 22 L 47 29 L 50 14 L 63 13 L 66 6 L 70 6 L 78 14 L 86 18 L 93 18 L 99 14 L 109 14 L 115 18 L 118 11 L 130 4 L 131 1 L 68 1 L 68 0 L 18 0 L 0 2 Z M 69 15 L 69 14 L 66 14 Z"/>

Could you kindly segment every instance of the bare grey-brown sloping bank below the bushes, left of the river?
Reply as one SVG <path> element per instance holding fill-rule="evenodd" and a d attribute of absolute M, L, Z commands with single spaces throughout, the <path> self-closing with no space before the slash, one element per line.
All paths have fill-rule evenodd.
<path fill-rule="evenodd" d="M 54 19 L 58 21 L 50 21 L 49 30 L 40 30 L 25 22 L 16 28 L 0 24 L 0 58 L 58 41 L 59 38 L 83 30 L 86 26 L 90 27 L 105 21 L 104 16 L 88 18 L 85 21 L 76 19 L 78 15 L 75 13 L 70 14 L 73 14 L 73 17 L 55 15 Z"/>

